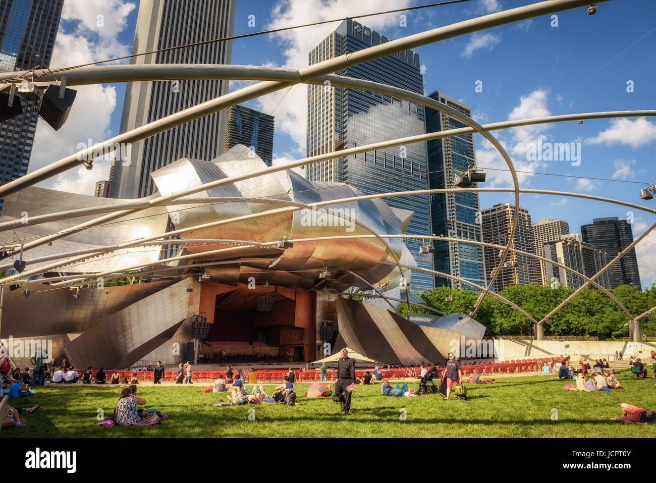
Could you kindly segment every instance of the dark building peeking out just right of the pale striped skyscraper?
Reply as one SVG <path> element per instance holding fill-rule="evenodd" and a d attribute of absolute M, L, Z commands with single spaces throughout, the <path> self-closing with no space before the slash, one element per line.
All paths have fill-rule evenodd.
<path fill-rule="evenodd" d="M 236 144 L 249 146 L 267 166 L 274 156 L 274 116 L 244 106 L 228 108 L 224 150 Z"/>

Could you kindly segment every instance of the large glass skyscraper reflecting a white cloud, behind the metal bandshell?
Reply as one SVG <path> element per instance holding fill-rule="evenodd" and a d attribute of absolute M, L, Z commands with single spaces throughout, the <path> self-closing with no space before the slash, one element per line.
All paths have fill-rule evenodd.
<path fill-rule="evenodd" d="M 344 20 L 312 49 L 308 61 L 312 65 L 388 41 L 384 35 L 354 20 Z M 413 51 L 350 66 L 337 74 L 424 93 L 419 54 Z M 424 108 L 415 102 L 331 85 L 308 86 L 308 156 L 425 132 Z M 425 190 L 428 188 L 426 165 L 426 143 L 417 142 L 321 161 L 307 167 L 307 177 L 312 181 L 345 182 L 365 194 Z M 414 212 L 407 234 L 430 236 L 428 196 L 388 198 L 386 203 Z M 432 255 L 419 253 L 421 245 L 424 240 L 406 242 L 417 264 L 432 269 Z M 432 275 L 412 274 L 411 291 L 422 292 L 432 287 Z"/>

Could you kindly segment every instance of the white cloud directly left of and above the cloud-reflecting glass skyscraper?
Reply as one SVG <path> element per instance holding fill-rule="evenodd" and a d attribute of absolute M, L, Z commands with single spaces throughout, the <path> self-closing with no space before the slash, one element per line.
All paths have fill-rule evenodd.
<path fill-rule="evenodd" d="M 398 0 L 394 3 L 394 8 L 409 7 L 411 3 L 412 0 Z M 386 0 L 361 0 L 357 3 L 352 0 L 281 0 L 271 13 L 271 18 L 274 20 L 265 28 L 276 29 L 346 16 L 357 17 L 358 14 L 389 9 L 389 2 Z M 399 27 L 399 14 L 364 18 L 363 23 L 390 38 L 403 36 L 404 29 Z M 280 67 L 299 69 L 307 66 L 310 51 L 337 26 L 338 23 L 335 22 L 272 34 L 281 44 L 281 51 L 285 58 Z M 400 35 L 395 35 L 398 31 L 400 31 Z M 409 32 L 405 35 L 409 35 Z M 295 85 L 291 89 L 262 96 L 256 102 L 258 110 L 266 112 L 266 114 L 273 113 L 272 116 L 276 116 L 276 131 L 289 135 L 297 144 L 295 156 L 304 157 L 306 155 L 307 86 Z"/>

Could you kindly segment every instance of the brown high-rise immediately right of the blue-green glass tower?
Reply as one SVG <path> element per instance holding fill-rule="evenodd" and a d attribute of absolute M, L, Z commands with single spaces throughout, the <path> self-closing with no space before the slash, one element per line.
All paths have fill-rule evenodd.
<path fill-rule="evenodd" d="M 483 242 L 495 245 L 508 245 L 510 229 L 515 217 L 515 206 L 510 203 L 499 203 L 481 211 L 483 226 Z M 533 225 L 527 209 L 520 207 L 520 215 L 510 248 L 535 253 Z M 485 271 L 490 278 L 494 269 L 501 261 L 502 250 L 485 247 Z M 495 281 L 495 291 L 501 291 L 508 285 L 529 285 L 538 282 L 538 264 L 527 255 L 508 253 L 504 266 Z"/>

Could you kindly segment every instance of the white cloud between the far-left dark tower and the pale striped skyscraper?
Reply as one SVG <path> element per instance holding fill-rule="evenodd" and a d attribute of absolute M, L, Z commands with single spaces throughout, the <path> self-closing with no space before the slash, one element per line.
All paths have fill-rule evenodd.
<path fill-rule="evenodd" d="M 51 68 L 131 53 L 131 45 L 122 45 L 118 38 L 127 25 L 127 16 L 134 8 L 134 3 L 125 0 L 67 0 L 62 18 L 77 23 L 71 31 L 60 26 Z M 79 145 L 89 144 L 89 139 L 94 144 L 112 137 L 110 120 L 117 107 L 115 87 L 87 85 L 74 89 L 77 96 L 64 127 L 55 132 L 44 121 L 37 125 L 30 171 L 77 152 Z M 95 182 L 108 179 L 108 175 L 109 161 L 96 160 L 92 171 L 79 167 L 45 180 L 39 186 L 92 195 Z"/>

